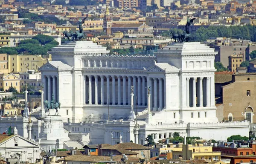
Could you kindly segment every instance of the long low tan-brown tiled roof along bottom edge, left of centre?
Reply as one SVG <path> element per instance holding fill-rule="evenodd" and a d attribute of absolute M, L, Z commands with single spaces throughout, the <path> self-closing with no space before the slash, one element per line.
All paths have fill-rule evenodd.
<path fill-rule="evenodd" d="M 122 155 L 113 156 L 113 161 L 121 161 Z M 127 156 L 128 161 L 138 161 L 139 158 Z M 70 155 L 65 158 L 61 158 L 58 161 L 88 161 L 88 162 L 100 162 L 100 161 L 111 161 L 110 156 L 100 155 Z"/>

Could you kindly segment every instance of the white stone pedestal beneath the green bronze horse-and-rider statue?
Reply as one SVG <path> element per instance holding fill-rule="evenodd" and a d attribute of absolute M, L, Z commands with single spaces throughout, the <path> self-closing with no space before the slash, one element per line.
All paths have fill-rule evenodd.
<path fill-rule="evenodd" d="M 50 114 L 55 113 L 55 109 L 50 109 Z M 63 121 L 60 115 L 47 115 L 44 119 L 43 133 L 40 134 L 41 147 L 63 148 L 63 142 L 68 141 L 68 132 L 63 128 Z"/>

